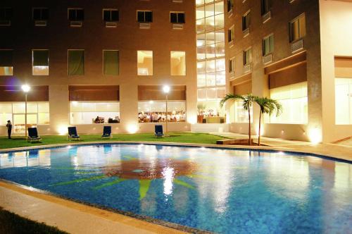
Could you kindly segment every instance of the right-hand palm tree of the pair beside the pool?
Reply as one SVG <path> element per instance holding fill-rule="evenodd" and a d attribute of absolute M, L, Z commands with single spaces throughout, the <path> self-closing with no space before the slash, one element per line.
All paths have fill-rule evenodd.
<path fill-rule="evenodd" d="M 276 111 L 276 116 L 279 116 L 282 113 L 282 105 L 279 103 L 279 101 L 270 99 L 268 97 L 256 97 L 255 102 L 260 107 L 258 130 L 258 145 L 260 145 L 260 124 L 262 114 L 268 113 L 269 116 L 271 116 L 272 112 Z"/>

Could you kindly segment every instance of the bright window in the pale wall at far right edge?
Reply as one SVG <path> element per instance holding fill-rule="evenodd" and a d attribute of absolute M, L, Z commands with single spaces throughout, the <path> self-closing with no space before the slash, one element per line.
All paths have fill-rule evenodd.
<path fill-rule="evenodd" d="M 335 123 L 352 124 L 352 78 L 335 78 Z"/>

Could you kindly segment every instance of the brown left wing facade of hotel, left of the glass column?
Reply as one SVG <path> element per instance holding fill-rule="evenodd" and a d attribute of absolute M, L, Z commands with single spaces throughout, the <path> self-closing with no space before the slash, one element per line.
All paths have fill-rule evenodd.
<path fill-rule="evenodd" d="M 0 134 L 190 130 L 196 121 L 194 1 L 0 3 Z M 191 35 L 191 37 L 189 36 Z M 168 85 L 168 113 L 163 86 Z M 97 124 L 100 123 L 100 124 Z"/>

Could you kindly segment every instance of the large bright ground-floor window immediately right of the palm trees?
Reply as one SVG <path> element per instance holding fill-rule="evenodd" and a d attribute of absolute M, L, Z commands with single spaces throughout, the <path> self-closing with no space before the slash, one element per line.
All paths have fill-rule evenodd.
<path fill-rule="evenodd" d="M 307 82 L 271 89 L 270 98 L 282 104 L 282 114 L 270 116 L 270 123 L 308 123 Z"/>

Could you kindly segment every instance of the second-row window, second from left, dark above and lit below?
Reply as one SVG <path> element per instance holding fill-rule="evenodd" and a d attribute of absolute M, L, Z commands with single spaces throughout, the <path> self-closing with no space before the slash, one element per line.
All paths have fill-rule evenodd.
<path fill-rule="evenodd" d="M 32 74 L 49 75 L 49 50 L 32 50 Z"/>

